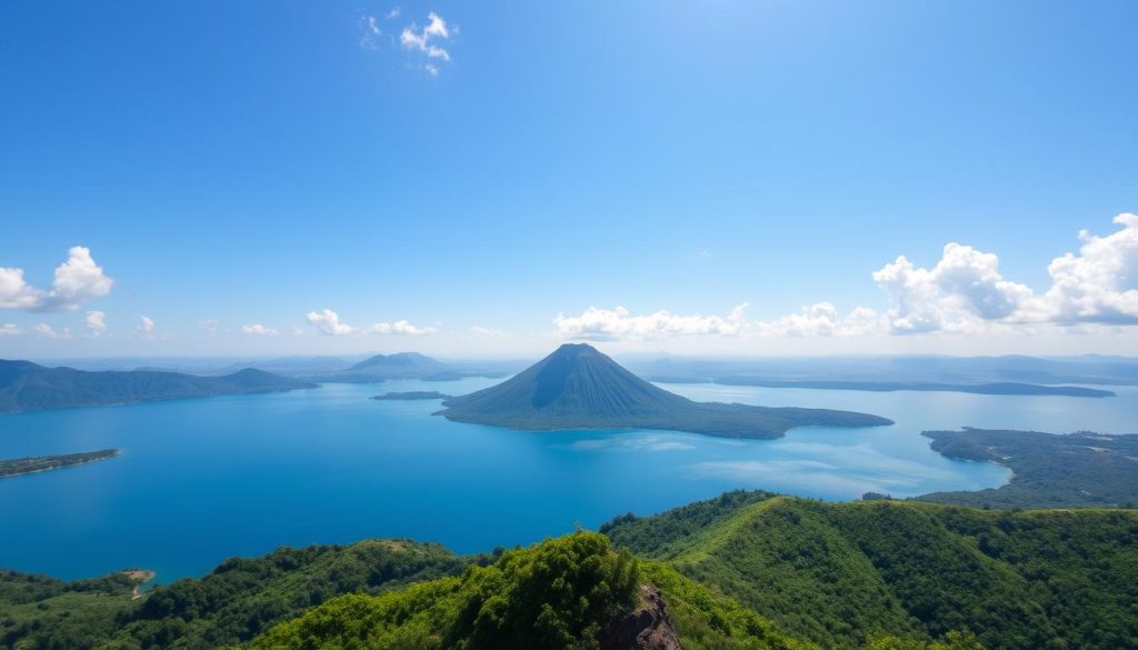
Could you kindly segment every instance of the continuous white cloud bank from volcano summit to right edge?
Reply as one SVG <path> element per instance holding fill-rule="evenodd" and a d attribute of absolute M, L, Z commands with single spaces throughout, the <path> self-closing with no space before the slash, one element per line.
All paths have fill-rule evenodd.
<path fill-rule="evenodd" d="M 918 268 L 905 255 L 873 273 L 889 294 L 884 313 L 866 306 L 842 316 L 828 302 L 773 321 L 749 321 L 747 304 L 727 316 L 679 315 L 659 311 L 633 315 L 622 306 L 591 306 L 580 315 L 553 320 L 561 338 L 583 340 L 658 339 L 673 336 L 860 336 L 887 332 L 983 334 L 992 328 L 1039 324 L 1138 324 L 1138 215 L 1114 217 L 1121 230 L 1097 237 L 1079 233 L 1079 253 L 1054 258 L 1047 268 L 1052 286 L 1037 294 L 1008 280 L 999 257 L 972 246 L 949 242 L 931 269 Z"/>

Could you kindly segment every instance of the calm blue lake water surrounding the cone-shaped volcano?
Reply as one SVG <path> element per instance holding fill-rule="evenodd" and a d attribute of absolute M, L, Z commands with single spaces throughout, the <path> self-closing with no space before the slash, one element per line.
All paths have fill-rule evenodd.
<path fill-rule="evenodd" d="M 950 461 L 918 434 L 959 426 L 1138 428 L 1138 392 L 1107 400 L 669 385 L 698 400 L 853 409 L 872 429 L 777 441 L 667 431 L 520 433 L 450 422 L 429 402 L 493 384 L 390 381 L 294 393 L 0 415 L 0 456 L 121 447 L 116 459 L 0 480 L 0 567 L 64 578 L 143 567 L 201 575 L 281 544 L 406 536 L 459 552 L 527 544 L 736 487 L 828 500 L 997 486 L 998 466 Z"/>

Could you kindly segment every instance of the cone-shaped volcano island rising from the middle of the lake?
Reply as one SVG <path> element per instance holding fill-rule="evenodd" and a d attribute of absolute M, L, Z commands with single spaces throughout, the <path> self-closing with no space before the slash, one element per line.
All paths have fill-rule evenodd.
<path fill-rule="evenodd" d="M 514 429 L 643 428 L 734 438 L 777 438 L 794 427 L 891 425 L 826 409 L 693 402 L 653 386 L 586 344 L 567 344 L 516 377 L 452 397 L 439 414 Z"/>

